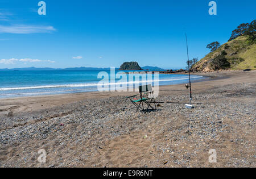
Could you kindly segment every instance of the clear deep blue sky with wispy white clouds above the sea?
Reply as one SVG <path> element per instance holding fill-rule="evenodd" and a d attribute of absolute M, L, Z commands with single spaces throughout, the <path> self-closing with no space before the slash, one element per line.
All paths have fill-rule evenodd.
<path fill-rule="evenodd" d="M 119 67 L 125 61 L 165 69 L 201 59 L 207 44 L 225 43 L 241 23 L 256 17 L 256 1 L 210 0 L 0 1 L 0 68 L 29 66 Z"/>

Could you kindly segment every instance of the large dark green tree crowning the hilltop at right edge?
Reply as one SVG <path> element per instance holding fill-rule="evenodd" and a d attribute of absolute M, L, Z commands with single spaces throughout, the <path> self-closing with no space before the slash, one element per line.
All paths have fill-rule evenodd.
<path fill-rule="evenodd" d="M 253 20 L 251 23 L 242 23 L 235 30 L 232 31 L 232 35 L 229 41 L 238 38 L 241 35 L 255 35 L 255 26 L 256 20 Z"/>

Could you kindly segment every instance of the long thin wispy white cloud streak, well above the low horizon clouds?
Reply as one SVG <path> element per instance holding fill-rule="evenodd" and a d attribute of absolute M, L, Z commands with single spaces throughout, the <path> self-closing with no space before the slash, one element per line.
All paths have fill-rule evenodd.
<path fill-rule="evenodd" d="M 56 31 L 52 26 L 28 26 L 28 25 L 11 25 L 1 26 L 0 33 L 9 34 L 33 34 L 33 33 L 50 33 Z"/>

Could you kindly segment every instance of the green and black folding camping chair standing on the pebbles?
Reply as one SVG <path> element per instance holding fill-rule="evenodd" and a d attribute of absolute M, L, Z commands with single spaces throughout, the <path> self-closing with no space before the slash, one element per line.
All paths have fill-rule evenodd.
<path fill-rule="evenodd" d="M 149 108 L 156 110 L 154 91 L 152 91 L 151 85 L 139 86 L 139 94 L 127 98 L 137 107 L 136 113 L 140 110 L 142 113 L 146 114 Z M 152 107 L 151 103 L 154 103 L 155 107 Z"/>

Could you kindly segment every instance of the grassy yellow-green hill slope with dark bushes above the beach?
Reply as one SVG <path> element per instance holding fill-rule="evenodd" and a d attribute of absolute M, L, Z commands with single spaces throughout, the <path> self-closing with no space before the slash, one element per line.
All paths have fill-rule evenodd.
<path fill-rule="evenodd" d="M 256 69 L 256 43 L 248 36 L 240 36 L 221 45 L 192 66 L 192 70 L 211 72 L 214 70 Z"/>

